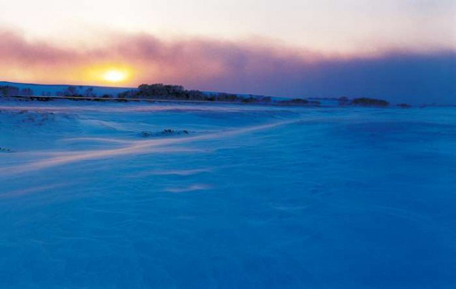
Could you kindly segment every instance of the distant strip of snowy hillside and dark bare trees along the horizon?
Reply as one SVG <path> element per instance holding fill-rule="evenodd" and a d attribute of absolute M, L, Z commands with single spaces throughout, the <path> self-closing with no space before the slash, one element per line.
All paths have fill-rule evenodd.
<path fill-rule="evenodd" d="M 187 90 L 183 86 L 163 83 L 142 84 L 138 88 L 114 88 L 102 86 L 41 85 L 33 83 L 0 82 L 0 96 L 37 101 L 58 99 L 87 100 L 95 102 L 182 102 L 220 103 L 243 105 L 274 105 L 283 107 L 390 107 L 387 100 L 374 98 L 273 98 L 264 95 L 209 93 Z M 41 88 L 40 91 L 32 88 Z M 49 90 L 43 90 L 48 88 Z M 51 89 L 52 88 L 52 89 Z M 65 88 L 61 90 L 62 88 Z M 40 90 L 40 89 L 39 89 Z M 41 95 L 39 95 L 41 93 Z M 411 107 L 402 103 L 401 108 Z"/>

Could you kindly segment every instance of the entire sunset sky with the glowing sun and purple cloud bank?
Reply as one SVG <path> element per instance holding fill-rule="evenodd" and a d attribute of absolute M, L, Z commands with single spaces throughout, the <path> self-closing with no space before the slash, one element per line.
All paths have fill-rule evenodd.
<path fill-rule="evenodd" d="M 454 0 L 15 0 L 0 81 L 456 102 Z"/>

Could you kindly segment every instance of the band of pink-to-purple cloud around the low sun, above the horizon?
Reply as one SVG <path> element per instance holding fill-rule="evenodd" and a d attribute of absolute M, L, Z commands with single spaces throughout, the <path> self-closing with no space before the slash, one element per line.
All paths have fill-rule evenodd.
<path fill-rule="evenodd" d="M 0 77 L 46 83 L 90 83 L 88 67 L 121 64 L 130 83 L 178 83 L 188 88 L 293 97 L 384 98 L 392 102 L 456 104 L 456 52 L 385 51 L 328 56 L 261 43 L 117 35 L 102 48 L 62 48 L 0 32 Z"/>

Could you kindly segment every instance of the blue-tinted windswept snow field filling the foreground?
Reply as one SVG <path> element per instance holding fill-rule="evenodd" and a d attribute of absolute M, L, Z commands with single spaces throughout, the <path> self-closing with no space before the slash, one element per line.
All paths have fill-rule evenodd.
<path fill-rule="evenodd" d="M 0 147 L 0 288 L 456 288 L 454 108 L 0 102 Z"/>

